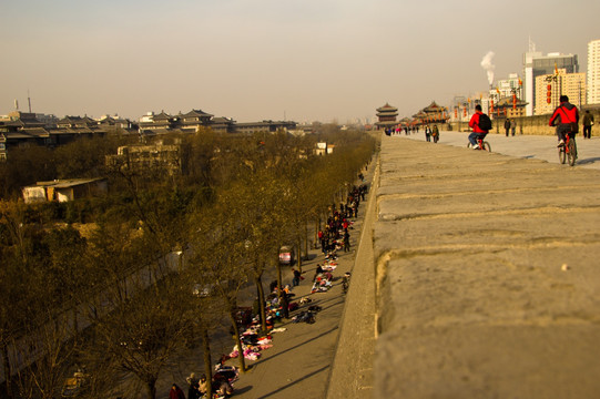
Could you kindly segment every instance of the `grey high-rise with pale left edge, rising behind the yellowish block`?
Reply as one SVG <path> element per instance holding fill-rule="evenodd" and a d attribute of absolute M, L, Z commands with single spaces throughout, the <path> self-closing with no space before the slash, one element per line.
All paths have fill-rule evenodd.
<path fill-rule="evenodd" d="M 537 52 L 535 45 L 530 43 L 529 51 L 523 54 L 523 86 L 525 101 L 528 103 L 526 108 L 528 116 L 533 115 L 533 106 L 537 103 L 536 78 L 555 73 L 556 70 L 565 70 L 566 73 L 579 73 L 577 55 L 560 53 L 548 53 L 548 55 L 542 55 L 541 52 Z"/>

